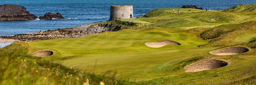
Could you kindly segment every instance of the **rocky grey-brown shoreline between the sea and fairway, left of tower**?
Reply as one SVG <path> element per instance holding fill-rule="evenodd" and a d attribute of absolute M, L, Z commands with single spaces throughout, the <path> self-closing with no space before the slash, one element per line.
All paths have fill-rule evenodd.
<path fill-rule="evenodd" d="M 94 23 L 82 26 L 75 26 L 71 28 L 59 28 L 56 30 L 39 31 L 38 33 L 25 33 L 16 34 L 14 36 L 0 36 L 2 39 L 13 39 L 25 42 L 31 42 L 36 40 L 49 40 L 57 38 L 75 38 L 84 37 L 92 34 L 102 33 L 105 31 L 119 31 L 122 26 L 113 26 L 112 24 Z"/>

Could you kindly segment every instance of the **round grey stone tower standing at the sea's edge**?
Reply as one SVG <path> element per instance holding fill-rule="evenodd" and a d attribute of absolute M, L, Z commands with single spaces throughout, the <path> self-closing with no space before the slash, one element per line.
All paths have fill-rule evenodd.
<path fill-rule="evenodd" d="M 133 6 L 124 5 L 124 6 L 111 6 L 110 7 L 110 21 L 116 19 L 132 19 L 133 17 Z"/>

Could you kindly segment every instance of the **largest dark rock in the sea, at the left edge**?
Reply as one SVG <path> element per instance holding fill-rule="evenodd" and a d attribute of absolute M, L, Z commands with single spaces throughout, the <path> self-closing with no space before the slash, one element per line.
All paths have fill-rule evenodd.
<path fill-rule="evenodd" d="M 14 4 L 0 5 L 0 20 L 35 20 L 37 17 L 26 8 Z"/>

